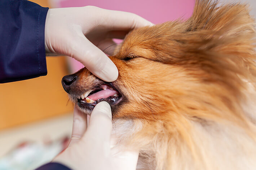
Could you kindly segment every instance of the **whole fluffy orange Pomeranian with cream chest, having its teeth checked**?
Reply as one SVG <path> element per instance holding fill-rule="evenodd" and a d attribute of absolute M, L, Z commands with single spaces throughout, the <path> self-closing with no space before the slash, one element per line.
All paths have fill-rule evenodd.
<path fill-rule="evenodd" d="M 196 0 L 190 19 L 125 37 L 110 56 L 116 81 L 83 68 L 62 84 L 85 114 L 111 105 L 118 145 L 140 149 L 137 169 L 256 170 L 254 38 L 247 5 Z"/>

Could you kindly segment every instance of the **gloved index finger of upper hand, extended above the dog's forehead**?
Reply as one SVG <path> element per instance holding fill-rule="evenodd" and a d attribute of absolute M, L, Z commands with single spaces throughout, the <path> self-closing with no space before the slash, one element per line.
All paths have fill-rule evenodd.
<path fill-rule="evenodd" d="M 101 15 L 103 20 L 98 24 L 112 30 L 129 30 L 154 25 L 148 20 L 133 13 L 115 10 L 101 10 L 102 12 L 99 14 Z"/>

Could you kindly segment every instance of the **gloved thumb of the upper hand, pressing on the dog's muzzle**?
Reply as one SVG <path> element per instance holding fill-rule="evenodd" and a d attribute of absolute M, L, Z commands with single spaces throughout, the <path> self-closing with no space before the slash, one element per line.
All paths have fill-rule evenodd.
<path fill-rule="evenodd" d="M 118 69 L 115 64 L 90 42 L 82 32 L 73 38 L 71 44 L 71 56 L 80 61 L 90 72 L 106 82 L 113 82 L 118 77 Z"/>

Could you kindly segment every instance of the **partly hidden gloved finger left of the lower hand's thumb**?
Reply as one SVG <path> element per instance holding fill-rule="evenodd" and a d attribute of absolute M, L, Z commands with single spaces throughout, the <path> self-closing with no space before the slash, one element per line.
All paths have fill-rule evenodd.
<path fill-rule="evenodd" d="M 83 113 L 78 109 L 78 106 L 74 107 L 74 115 L 73 115 L 73 128 L 71 134 L 71 140 L 69 146 L 73 143 L 78 142 L 81 137 L 84 135 L 87 129 L 87 116 L 83 115 Z"/>

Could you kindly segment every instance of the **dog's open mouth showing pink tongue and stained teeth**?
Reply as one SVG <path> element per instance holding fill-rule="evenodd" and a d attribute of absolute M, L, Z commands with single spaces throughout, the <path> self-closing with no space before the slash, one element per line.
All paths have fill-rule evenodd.
<path fill-rule="evenodd" d="M 82 109 L 91 110 L 101 101 L 106 101 L 113 106 L 117 105 L 121 99 L 122 95 L 111 84 L 103 84 L 84 92 L 77 98 L 77 102 Z"/>

